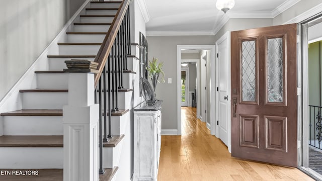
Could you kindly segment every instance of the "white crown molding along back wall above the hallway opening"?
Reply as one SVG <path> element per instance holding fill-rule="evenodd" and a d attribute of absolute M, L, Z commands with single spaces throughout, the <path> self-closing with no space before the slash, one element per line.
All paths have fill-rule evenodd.
<path fill-rule="evenodd" d="M 214 35 L 213 31 L 146 31 L 146 36 L 199 36 Z"/>

